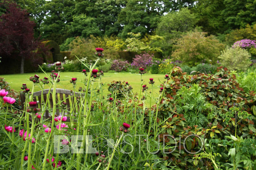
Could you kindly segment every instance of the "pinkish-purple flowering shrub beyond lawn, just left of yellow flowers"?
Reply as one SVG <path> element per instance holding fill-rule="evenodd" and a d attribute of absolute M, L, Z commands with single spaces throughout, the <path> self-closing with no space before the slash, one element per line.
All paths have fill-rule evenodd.
<path fill-rule="evenodd" d="M 131 66 L 135 69 L 140 67 L 146 69 L 148 66 L 152 66 L 154 55 L 149 55 L 148 53 L 135 55 L 135 58 L 132 59 Z"/>

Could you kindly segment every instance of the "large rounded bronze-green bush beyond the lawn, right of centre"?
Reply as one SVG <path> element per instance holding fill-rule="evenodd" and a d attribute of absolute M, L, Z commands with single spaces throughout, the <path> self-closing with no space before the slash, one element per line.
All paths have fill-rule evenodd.
<path fill-rule="evenodd" d="M 174 45 L 175 51 L 172 57 L 181 60 L 188 66 L 195 66 L 202 60 L 206 63 L 216 63 L 224 44 L 220 43 L 215 36 L 205 37 L 206 33 L 189 32 L 183 35 Z"/>

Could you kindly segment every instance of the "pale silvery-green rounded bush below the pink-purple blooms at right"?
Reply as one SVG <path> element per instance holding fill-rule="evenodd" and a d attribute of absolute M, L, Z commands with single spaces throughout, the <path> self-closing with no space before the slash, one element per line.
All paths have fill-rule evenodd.
<path fill-rule="evenodd" d="M 225 50 L 221 51 L 220 63 L 226 66 L 229 70 L 247 70 L 251 64 L 251 55 L 246 49 L 240 47 L 226 47 Z"/>

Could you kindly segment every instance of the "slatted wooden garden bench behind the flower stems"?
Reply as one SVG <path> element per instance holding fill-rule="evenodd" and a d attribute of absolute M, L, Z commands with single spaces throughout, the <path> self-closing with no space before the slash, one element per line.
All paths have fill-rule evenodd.
<path fill-rule="evenodd" d="M 44 100 L 43 102 L 44 102 L 44 104 L 45 104 L 45 101 L 46 101 L 47 94 L 48 94 L 49 90 L 50 89 L 44 89 L 43 90 L 43 100 Z M 50 93 L 50 96 L 49 96 L 48 103 L 46 103 L 47 107 L 51 108 L 51 109 L 53 108 L 52 91 L 53 91 L 53 89 L 51 89 L 51 93 Z M 38 91 L 38 92 L 33 93 L 33 101 L 37 102 L 37 108 L 41 108 L 41 104 L 43 103 L 41 101 L 41 94 L 42 94 L 41 90 Z M 64 115 L 69 114 L 69 112 L 70 112 L 70 103 L 71 103 L 71 101 L 74 102 L 74 100 L 76 100 L 76 97 L 78 97 L 78 96 L 80 96 L 78 92 L 75 92 L 75 95 L 74 95 L 74 92 L 71 93 L 70 90 L 58 89 L 58 88 L 56 89 L 56 103 L 58 103 L 59 101 L 61 101 L 61 102 L 64 101 L 64 102 L 67 103 L 66 107 L 67 107 L 68 113 L 67 113 L 67 110 L 65 110 L 66 113 L 64 113 Z M 25 103 L 25 95 L 22 92 L 20 93 L 20 100 L 21 100 L 21 103 L 22 103 L 22 110 L 23 110 L 24 109 L 24 103 Z M 75 102 L 77 102 L 77 100 Z M 61 103 L 57 104 L 55 115 L 61 115 L 62 114 L 62 109 L 58 108 L 59 105 L 61 105 Z M 73 113 L 77 114 L 78 112 L 79 112 L 79 106 L 77 105 L 77 107 L 74 109 Z M 49 110 L 45 111 L 43 118 L 44 119 L 49 118 Z M 69 116 L 67 116 L 67 121 L 66 122 L 70 122 L 70 117 Z"/>

